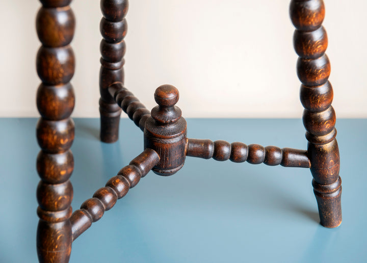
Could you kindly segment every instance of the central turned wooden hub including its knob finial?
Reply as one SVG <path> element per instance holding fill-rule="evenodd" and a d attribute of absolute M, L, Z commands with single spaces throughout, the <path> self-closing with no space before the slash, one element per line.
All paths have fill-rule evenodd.
<path fill-rule="evenodd" d="M 176 173 L 186 158 L 187 123 L 175 106 L 178 98 L 178 90 L 172 85 L 158 87 L 154 92 L 158 106 L 151 110 L 151 117 L 145 123 L 144 149 L 159 154 L 160 162 L 152 170 L 163 176 Z"/>

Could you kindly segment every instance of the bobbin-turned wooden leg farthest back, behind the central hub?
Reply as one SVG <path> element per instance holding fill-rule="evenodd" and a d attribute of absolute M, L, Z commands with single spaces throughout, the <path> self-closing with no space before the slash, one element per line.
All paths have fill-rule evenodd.
<path fill-rule="evenodd" d="M 100 139 L 112 143 L 118 140 L 121 109 L 110 95 L 108 87 L 115 82 L 124 82 L 123 56 L 127 23 L 127 0 L 101 0 L 103 17 L 100 21 L 101 68 L 99 72 Z"/>

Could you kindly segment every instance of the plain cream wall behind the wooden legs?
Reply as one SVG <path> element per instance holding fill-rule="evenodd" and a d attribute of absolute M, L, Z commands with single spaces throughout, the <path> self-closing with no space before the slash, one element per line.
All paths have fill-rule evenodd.
<path fill-rule="evenodd" d="M 324 0 L 337 117 L 367 117 L 367 2 Z M 130 0 L 125 86 L 147 108 L 162 84 L 185 117 L 300 117 L 297 56 L 286 0 Z M 0 116 L 39 116 L 39 1 L 2 1 Z M 98 117 L 99 0 L 74 0 L 74 117 Z M 125 117 L 125 114 L 122 114 Z"/>

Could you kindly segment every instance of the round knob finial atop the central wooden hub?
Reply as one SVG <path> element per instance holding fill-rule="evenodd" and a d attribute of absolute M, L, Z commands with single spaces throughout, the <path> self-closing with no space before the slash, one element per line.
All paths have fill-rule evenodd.
<path fill-rule="evenodd" d="M 158 106 L 151 111 L 154 120 L 161 123 L 173 123 L 181 117 L 181 110 L 175 106 L 179 98 L 178 90 L 172 85 L 162 85 L 154 92 Z"/>

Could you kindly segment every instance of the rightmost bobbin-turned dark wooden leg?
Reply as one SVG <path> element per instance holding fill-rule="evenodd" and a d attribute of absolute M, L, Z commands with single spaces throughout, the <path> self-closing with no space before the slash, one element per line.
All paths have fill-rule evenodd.
<path fill-rule="evenodd" d="M 300 98 L 305 108 L 307 154 L 311 163 L 312 186 L 319 206 L 321 224 L 337 227 L 342 223 L 342 180 L 339 177 L 339 150 L 335 139 L 333 91 L 328 77 L 330 62 L 325 55 L 328 40 L 322 26 L 322 0 L 293 0 L 290 15 L 296 31 L 294 47 L 299 56 L 297 74 L 302 82 Z"/>

